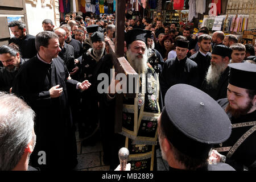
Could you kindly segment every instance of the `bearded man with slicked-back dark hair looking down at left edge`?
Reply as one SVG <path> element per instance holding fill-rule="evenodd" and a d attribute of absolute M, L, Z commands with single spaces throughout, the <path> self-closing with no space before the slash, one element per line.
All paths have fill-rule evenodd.
<path fill-rule="evenodd" d="M 0 47 L 0 62 L 3 63 L 3 67 L 0 67 L 0 90 L 11 92 L 16 73 L 25 60 L 13 45 Z"/>

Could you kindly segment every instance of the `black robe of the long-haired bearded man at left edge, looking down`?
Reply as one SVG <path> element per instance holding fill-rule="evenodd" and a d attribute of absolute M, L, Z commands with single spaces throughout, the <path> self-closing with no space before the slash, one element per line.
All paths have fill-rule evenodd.
<path fill-rule="evenodd" d="M 20 57 L 20 65 L 24 64 L 26 60 Z M 10 92 L 10 88 L 13 87 L 13 82 L 18 69 L 14 72 L 9 72 L 5 67 L 0 67 L 0 90 Z"/>

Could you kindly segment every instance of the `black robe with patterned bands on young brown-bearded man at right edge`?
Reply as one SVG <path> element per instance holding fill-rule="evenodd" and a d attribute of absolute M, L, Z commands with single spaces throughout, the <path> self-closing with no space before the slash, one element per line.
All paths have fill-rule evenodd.
<path fill-rule="evenodd" d="M 226 109 L 226 106 L 228 105 L 228 99 L 223 98 L 221 100 L 217 101 L 218 104 L 223 109 Z M 226 140 L 224 143 L 221 143 L 220 145 L 216 146 L 217 148 L 214 148 L 220 154 L 226 156 L 226 162 L 233 168 L 235 168 L 237 171 L 249 169 L 254 170 L 256 169 L 256 131 L 251 133 L 249 137 L 247 137 L 237 148 L 237 150 L 234 152 L 234 154 L 229 157 L 227 156 L 228 151 L 230 148 L 234 146 L 234 144 L 237 142 L 238 139 L 242 137 L 243 134 L 245 134 L 248 130 L 250 130 L 253 126 L 256 125 L 256 110 L 252 113 L 240 115 L 238 118 L 232 117 L 230 113 L 228 113 L 229 119 L 232 123 L 232 133 L 228 140 Z M 247 122 L 254 122 L 252 125 L 249 125 Z M 239 124 L 238 124 L 239 123 Z M 246 124 L 245 124 L 246 123 Z M 247 135 L 245 135 L 247 136 Z M 228 148 L 228 150 L 226 150 Z"/>

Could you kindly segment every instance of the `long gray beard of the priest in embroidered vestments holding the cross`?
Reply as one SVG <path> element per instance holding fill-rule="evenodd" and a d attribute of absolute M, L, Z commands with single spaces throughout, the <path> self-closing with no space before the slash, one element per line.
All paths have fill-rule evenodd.
<path fill-rule="evenodd" d="M 131 49 L 127 49 L 126 56 L 127 60 L 131 64 L 131 67 L 137 72 L 138 74 L 144 73 L 147 69 L 147 48 L 144 51 L 144 54 L 142 55 L 142 58 L 138 58 L 137 53 L 131 52 Z"/>

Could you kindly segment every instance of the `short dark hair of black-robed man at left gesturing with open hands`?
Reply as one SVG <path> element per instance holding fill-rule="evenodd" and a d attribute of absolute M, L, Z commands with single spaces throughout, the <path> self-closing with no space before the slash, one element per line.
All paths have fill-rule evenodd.
<path fill-rule="evenodd" d="M 56 38 L 59 40 L 59 36 L 51 31 L 43 31 L 38 33 L 35 38 L 35 47 L 36 50 L 39 51 L 40 46 L 48 47 L 49 39 Z"/>

